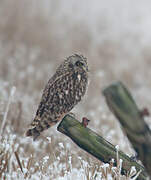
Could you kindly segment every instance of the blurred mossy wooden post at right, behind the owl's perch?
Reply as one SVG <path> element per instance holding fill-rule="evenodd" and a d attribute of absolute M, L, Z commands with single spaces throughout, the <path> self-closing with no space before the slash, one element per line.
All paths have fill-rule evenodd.
<path fill-rule="evenodd" d="M 151 130 L 144 121 L 132 95 L 121 83 L 117 82 L 106 89 L 103 94 L 110 110 L 119 120 L 133 148 L 137 152 L 151 176 Z"/>

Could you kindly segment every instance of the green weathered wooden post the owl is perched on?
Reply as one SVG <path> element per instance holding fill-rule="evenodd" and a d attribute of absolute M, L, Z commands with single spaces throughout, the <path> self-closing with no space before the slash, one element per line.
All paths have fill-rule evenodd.
<path fill-rule="evenodd" d="M 91 129 L 85 128 L 82 123 L 74 117 L 66 115 L 58 125 L 57 129 L 70 137 L 80 148 L 92 154 L 102 162 L 109 163 L 112 158 L 116 160 L 116 148 Z M 147 173 L 140 164 L 129 158 L 122 151 L 119 151 L 119 158 L 123 160 L 123 174 L 126 174 L 132 166 L 135 166 L 137 171 L 142 170 L 138 179 L 146 179 Z"/>

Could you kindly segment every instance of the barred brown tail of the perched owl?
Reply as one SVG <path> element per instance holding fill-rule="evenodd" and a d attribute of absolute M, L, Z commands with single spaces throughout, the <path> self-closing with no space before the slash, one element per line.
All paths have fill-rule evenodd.
<path fill-rule="evenodd" d="M 47 121 L 39 121 L 35 127 L 28 129 L 26 136 L 33 136 L 33 140 L 35 141 L 37 137 L 40 136 L 40 133 L 49 127 L 50 125 L 47 123 Z"/>

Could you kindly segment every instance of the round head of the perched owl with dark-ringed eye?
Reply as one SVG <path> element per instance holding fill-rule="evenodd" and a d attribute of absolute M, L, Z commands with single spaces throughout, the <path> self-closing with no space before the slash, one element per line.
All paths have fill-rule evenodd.
<path fill-rule="evenodd" d="M 66 62 L 71 71 L 88 72 L 87 59 L 82 55 L 74 54 L 69 56 Z"/>

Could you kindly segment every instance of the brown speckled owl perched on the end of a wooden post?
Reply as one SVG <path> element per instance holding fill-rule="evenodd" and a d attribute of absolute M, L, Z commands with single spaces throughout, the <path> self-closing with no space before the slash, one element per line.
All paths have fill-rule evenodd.
<path fill-rule="evenodd" d="M 74 54 L 66 58 L 46 84 L 31 128 L 26 132 L 35 140 L 55 125 L 81 101 L 88 85 L 87 59 Z"/>

